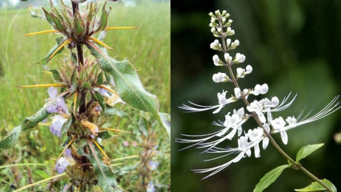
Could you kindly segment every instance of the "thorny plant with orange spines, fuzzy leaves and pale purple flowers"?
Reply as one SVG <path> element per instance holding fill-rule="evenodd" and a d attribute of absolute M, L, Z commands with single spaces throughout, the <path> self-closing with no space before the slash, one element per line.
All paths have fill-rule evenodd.
<path fill-rule="evenodd" d="M 27 0 L 23 0 L 27 1 Z M 118 185 L 115 173 L 111 169 L 112 160 L 103 150 L 102 139 L 109 139 L 111 132 L 126 130 L 106 127 L 105 123 L 113 115 L 124 118 L 126 114 L 116 108 L 117 103 L 127 104 L 136 110 L 149 112 L 159 126 L 169 133 L 170 117 L 158 112 L 156 96 L 148 93 L 133 66 L 127 61 L 116 61 L 107 54 L 109 48 L 102 42 L 106 31 L 113 29 L 132 29 L 137 27 L 107 27 L 109 11 L 106 3 L 101 8 L 95 3 L 88 3 L 85 10 L 79 9 L 79 3 L 86 0 L 72 0 L 72 6 L 64 4 L 57 8 L 50 1 L 51 11 L 43 8 L 41 18 L 51 24 L 54 30 L 46 30 L 25 34 L 26 36 L 57 33 L 62 37 L 56 39 L 57 44 L 46 57 L 37 63 L 44 67 L 47 73 L 53 75 L 58 83 L 18 86 L 22 88 L 49 87 L 46 103 L 42 109 L 31 117 L 25 118 L 20 126 L 0 140 L 0 148 L 8 149 L 18 142 L 22 131 L 30 130 L 38 125 L 50 126 L 53 135 L 66 138 L 63 149 L 55 159 L 55 169 L 58 175 L 38 181 L 20 189 L 32 189 L 35 185 L 68 178 L 70 184 L 66 191 L 91 190 L 97 185 L 105 192 L 124 191 Z M 117 0 L 109 0 L 117 1 Z M 35 13 L 36 14 L 36 13 Z M 94 35 L 99 33 L 99 38 Z M 84 45 L 95 57 L 85 57 Z M 69 59 L 59 62 L 60 69 L 50 69 L 48 62 L 67 46 L 70 50 Z M 76 49 L 76 53 L 73 50 Z M 57 88 L 60 88 L 58 90 Z M 63 137 L 66 136 L 66 137 Z M 144 165 L 152 162 L 152 154 L 145 156 Z M 124 158 L 124 157 L 123 157 Z M 155 165 L 146 165 L 149 170 Z M 157 166 L 157 165 L 156 165 Z M 150 172 L 144 176 L 150 176 Z M 144 189 L 155 191 L 154 183 L 146 183 Z"/>

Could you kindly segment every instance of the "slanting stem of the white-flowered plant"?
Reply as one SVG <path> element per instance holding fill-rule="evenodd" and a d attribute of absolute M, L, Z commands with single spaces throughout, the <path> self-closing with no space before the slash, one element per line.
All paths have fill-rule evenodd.
<path fill-rule="evenodd" d="M 219 18 L 219 27 L 221 29 L 223 29 L 222 23 L 221 23 L 221 18 Z M 223 37 L 223 35 L 221 35 L 221 41 L 222 41 L 222 47 L 223 47 L 223 52 L 227 53 L 228 49 L 226 48 L 226 43 L 225 43 L 225 37 Z M 236 88 L 240 89 L 240 86 L 237 82 L 237 79 L 232 71 L 232 63 L 227 63 L 227 68 L 228 71 L 230 73 L 231 79 L 233 84 L 235 85 Z M 241 89 L 242 90 L 242 89 Z M 242 99 L 245 103 L 246 106 L 249 106 L 250 103 L 247 101 L 247 99 L 245 98 L 243 92 L 241 92 L 241 96 Z M 333 190 L 331 190 L 326 184 L 324 184 L 321 180 L 319 180 L 315 175 L 313 175 L 311 172 L 309 172 L 307 169 L 303 168 L 301 164 L 296 163 L 286 152 L 283 151 L 283 149 L 276 143 L 276 141 L 272 138 L 272 136 L 267 132 L 267 130 L 264 128 L 261 120 L 259 120 L 257 114 L 255 112 L 251 112 L 253 118 L 256 120 L 257 124 L 263 128 L 264 133 L 266 134 L 266 136 L 269 138 L 271 144 L 273 144 L 273 146 L 276 148 L 276 150 L 282 155 L 284 156 L 290 163 L 292 163 L 292 165 L 294 166 L 294 168 L 297 168 L 299 170 L 301 170 L 302 172 L 304 172 L 305 174 L 307 174 L 309 177 L 311 177 L 313 180 L 315 180 L 317 183 L 319 183 L 321 186 L 323 186 L 327 191 L 329 192 L 333 192 Z"/>

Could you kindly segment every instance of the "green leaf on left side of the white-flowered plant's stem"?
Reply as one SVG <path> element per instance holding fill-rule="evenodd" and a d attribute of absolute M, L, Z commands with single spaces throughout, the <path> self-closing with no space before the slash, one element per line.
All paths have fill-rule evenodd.
<path fill-rule="evenodd" d="M 289 168 L 290 165 L 283 165 L 277 168 L 270 170 L 267 174 L 265 174 L 259 183 L 256 185 L 253 192 L 263 192 L 266 188 L 268 188 L 276 179 L 281 175 L 284 169 Z"/>

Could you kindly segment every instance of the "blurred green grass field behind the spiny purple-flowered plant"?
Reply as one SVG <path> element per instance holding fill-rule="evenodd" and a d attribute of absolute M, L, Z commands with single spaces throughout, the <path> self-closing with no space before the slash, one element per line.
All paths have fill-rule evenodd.
<path fill-rule="evenodd" d="M 155 94 L 160 102 L 160 111 L 170 113 L 170 3 L 143 2 L 136 7 L 124 7 L 113 3 L 108 26 L 139 26 L 138 29 L 108 31 L 104 42 L 114 51 L 111 56 L 121 60 L 127 58 L 138 70 L 147 91 Z M 43 68 L 33 63 L 44 57 L 55 44 L 57 34 L 43 34 L 25 37 L 24 33 L 51 29 L 45 20 L 31 18 L 29 10 L 0 10 L 0 137 L 14 126 L 40 109 L 48 97 L 46 88 L 22 89 L 15 85 L 53 83 L 53 78 L 43 73 Z M 63 54 L 68 54 L 64 51 Z M 49 67 L 56 67 L 56 61 L 63 59 L 59 54 L 52 59 Z M 132 117 L 132 110 L 122 106 Z M 133 118 L 137 119 L 137 118 Z M 113 126 L 133 130 L 129 120 L 112 120 Z M 160 150 L 170 148 L 166 131 L 156 127 Z M 105 141 L 106 151 L 111 158 L 119 158 L 139 153 L 137 148 L 122 147 L 123 141 L 139 143 L 138 137 L 121 134 L 118 138 Z M 43 163 L 48 167 L 0 168 L 0 186 L 14 182 L 22 187 L 29 180 L 44 178 L 42 171 L 53 174 L 54 161 L 60 152 L 62 141 L 41 126 L 21 134 L 19 143 L 13 149 L 0 152 L 0 166 L 15 163 Z M 168 148 L 168 149 L 167 149 Z M 170 152 L 168 152 L 170 153 Z M 159 158 L 159 157 L 158 157 Z M 160 157 L 158 181 L 170 185 L 170 157 Z M 130 162 L 131 161 L 131 162 Z M 127 160 L 127 165 L 138 162 Z M 43 171 L 43 172 L 44 172 Z M 166 173 L 165 173 L 166 172 Z M 27 173 L 27 174 L 26 174 Z M 16 175 L 16 176 L 15 176 Z M 45 175 L 46 176 L 46 175 Z M 13 181 L 14 179 L 14 181 Z M 55 189 L 64 183 L 56 182 Z M 38 189 L 45 189 L 40 186 Z M 122 188 L 129 191 L 128 184 Z M 36 189 L 36 188 L 35 188 Z"/>

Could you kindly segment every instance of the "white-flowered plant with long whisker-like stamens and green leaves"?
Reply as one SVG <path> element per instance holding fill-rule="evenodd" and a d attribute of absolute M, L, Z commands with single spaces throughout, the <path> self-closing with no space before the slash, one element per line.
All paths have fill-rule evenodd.
<path fill-rule="evenodd" d="M 206 161 L 223 158 L 228 155 L 235 156 L 232 160 L 229 160 L 223 165 L 214 168 L 195 169 L 194 171 L 196 173 L 210 172 L 206 177 L 204 177 L 204 179 L 208 178 L 228 167 L 232 163 L 237 163 L 244 157 L 250 157 L 252 148 L 254 149 L 255 157 L 260 157 L 259 144 L 262 143 L 261 145 L 263 149 L 266 149 L 268 143 L 270 142 L 277 149 L 277 151 L 288 160 L 289 164 L 277 167 L 268 172 L 257 184 L 254 192 L 261 192 L 266 189 L 277 179 L 277 177 L 285 168 L 301 170 L 315 181 L 308 187 L 296 191 L 310 192 L 316 191 L 318 189 L 318 191 L 336 192 L 335 186 L 330 181 L 326 179 L 318 179 L 299 163 L 299 160 L 305 158 L 323 144 L 314 144 L 302 147 L 297 153 L 296 160 L 293 160 L 276 143 L 276 141 L 272 138 L 272 134 L 280 133 L 283 144 L 288 144 L 288 130 L 298 127 L 299 125 L 319 120 L 340 109 L 340 102 L 338 101 L 339 96 L 336 96 L 326 107 L 311 117 L 309 117 L 310 113 L 308 113 L 303 118 L 302 114 L 300 114 L 298 117 L 292 116 L 286 118 L 285 120 L 280 116 L 274 117 L 273 113 L 287 109 L 293 103 L 296 95 L 292 96 L 290 93 L 282 100 L 282 102 L 279 101 L 278 97 L 273 96 L 270 99 L 262 98 L 260 100 L 253 100 L 250 103 L 248 101 L 248 97 L 252 95 L 259 96 L 266 94 L 268 92 L 268 85 L 257 84 L 253 89 L 242 89 L 239 86 L 238 80 L 244 78 L 247 74 L 250 74 L 252 72 L 252 67 L 250 65 L 247 65 L 245 69 L 238 67 L 236 69 L 236 74 L 232 69 L 233 66 L 240 65 L 245 61 L 244 54 L 237 53 L 233 58 L 228 53 L 230 50 L 237 48 L 240 44 L 238 40 L 232 41 L 230 38 L 228 38 L 235 34 L 235 31 L 230 27 L 233 21 L 228 19 L 230 14 L 228 14 L 226 11 L 220 12 L 217 10 L 215 14 L 212 12 L 209 13 L 209 16 L 211 17 L 211 23 L 209 24 L 211 27 L 211 32 L 213 33 L 214 37 L 219 38 L 214 40 L 210 47 L 214 50 L 221 51 L 224 56 L 224 59 L 221 60 L 218 55 L 214 55 L 213 63 L 215 66 L 226 67 L 228 70 L 228 75 L 225 72 L 218 72 L 213 75 L 212 79 L 216 83 L 232 83 L 235 87 L 234 95 L 231 95 L 231 97 L 227 98 L 227 91 L 222 91 L 221 93 L 218 93 L 219 101 L 217 105 L 202 106 L 190 102 L 191 105 L 183 104 L 180 106 L 180 108 L 188 112 L 214 110 L 213 113 L 216 114 L 219 113 L 219 111 L 227 104 L 242 100 L 245 104 L 246 111 L 244 110 L 244 107 L 238 110 L 234 109 L 233 112 L 229 112 L 227 115 L 225 115 L 224 121 L 214 121 L 213 125 L 222 127 L 217 132 L 206 135 L 183 135 L 188 137 L 188 139 L 176 139 L 176 141 L 179 143 L 191 144 L 188 147 L 196 146 L 197 148 L 202 148 L 204 149 L 204 153 L 222 154 L 219 157 Z M 249 119 L 254 119 L 256 121 L 256 128 L 242 128 L 242 125 Z M 220 146 L 222 142 L 226 140 L 232 140 L 235 137 L 238 137 L 237 147 L 224 148 Z"/>

